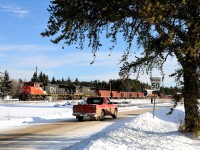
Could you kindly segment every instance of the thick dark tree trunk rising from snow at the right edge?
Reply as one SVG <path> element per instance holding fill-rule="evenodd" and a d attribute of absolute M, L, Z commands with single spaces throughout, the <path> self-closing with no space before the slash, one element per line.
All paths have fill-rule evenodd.
<path fill-rule="evenodd" d="M 185 131 L 194 135 L 200 133 L 200 108 L 197 100 L 198 96 L 198 74 L 197 65 L 187 63 L 184 70 L 184 107 L 185 107 Z"/>

